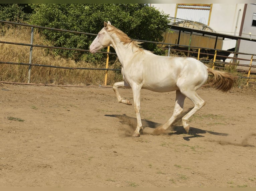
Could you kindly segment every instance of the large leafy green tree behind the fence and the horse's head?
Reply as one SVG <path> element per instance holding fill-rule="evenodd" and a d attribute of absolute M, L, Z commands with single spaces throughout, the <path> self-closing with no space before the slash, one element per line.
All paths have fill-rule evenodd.
<path fill-rule="evenodd" d="M 168 15 L 147 4 L 31 4 L 34 13 L 30 23 L 44 27 L 97 34 L 104 21 L 125 32 L 132 39 L 159 42 L 167 30 Z M 43 30 L 54 46 L 89 49 L 95 36 Z M 154 51 L 156 44 L 143 43 L 143 48 Z M 65 57 L 87 60 L 90 53 L 54 50 Z M 112 51 L 113 52 L 113 51 Z M 96 55 L 96 57 L 100 55 Z M 95 57 L 95 56 L 93 56 Z M 105 57 L 105 56 L 104 56 Z"/>

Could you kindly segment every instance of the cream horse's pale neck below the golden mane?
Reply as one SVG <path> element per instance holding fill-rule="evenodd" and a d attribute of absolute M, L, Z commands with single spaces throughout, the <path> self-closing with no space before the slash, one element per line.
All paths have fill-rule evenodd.
<path fill-rule="evenodd" d="M 135 54 L 131 44 L 124 44 L 119 39 L 113 39 L 112 47 L 115 49 L 122 66 L 129 63 Z"/>

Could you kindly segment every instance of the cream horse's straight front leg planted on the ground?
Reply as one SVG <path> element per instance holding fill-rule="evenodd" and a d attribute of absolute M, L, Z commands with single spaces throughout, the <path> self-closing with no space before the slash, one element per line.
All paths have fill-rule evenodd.
<path fill-rule="evenodd" d="M 137 127 L 132 134 L 133 137 L 139 137 L 140 136 L 140 130 L 143 130 L 141 118 L 140 118 L 140 90 L 141 86 L 134 85 L 132 86 L 132 93 L 133 93 L 133 102 L 134 102 L 134 109 L 136 113 L 137 118 Z"/>

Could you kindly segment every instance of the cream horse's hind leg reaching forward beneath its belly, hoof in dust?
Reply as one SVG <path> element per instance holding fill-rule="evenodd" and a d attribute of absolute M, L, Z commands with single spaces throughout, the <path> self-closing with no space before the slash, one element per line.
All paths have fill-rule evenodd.
<path fill-rule="evenodd" d="M 176 90 L 175 106 L 174 106 L 174 110 L 173 110 L 173 114 L 172 114 L 171 118 L 166 123 L 164 123 L 162 126 L 156 128 L 154 130 L 154 133 L 156 133 L 156 134 L 161 133 L 162 130 L 166 130 L 175 121 L 175 119 L 183 111 L 183 105 L 184 105 L 185 98 L 186 98 L 186 96 L 181 94 L 179 90 Z"/>

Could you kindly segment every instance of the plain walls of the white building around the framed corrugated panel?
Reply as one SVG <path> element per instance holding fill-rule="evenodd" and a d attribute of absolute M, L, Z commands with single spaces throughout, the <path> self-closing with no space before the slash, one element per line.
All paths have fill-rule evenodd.
<path fill-rule="evenodd" d="M 217 33 L 239 36 L 244 5 L 245 4 L 236 3 L 213 4 L 209 27 Z M 155 7 L 159 11 L 163 11 L 165 14 L 169 14 L 170 17 L 175 17 L 176 4 L 150 4 L 150 6 Z M 239 11 L 240 9 L 241 11 Z M 249 33 L 251 32 L 251 37 L 255 39 L 256 27 L 251 26 L 253 13 L 256 13 L 256 4 L 248 4 L 241 36 L 248 38 Z M 241 40 L 239 52 L 256 54 L 255 44 L 255 42 Z M 235 46 L 236 40 L 225 38 L 220 49 L 227 50 Z M 231 54 L 230 57 L 233 57 L 233 54 Z M 240 55 L 239 58 L 250 59 L 251 56 Z M 230 61 L 230 59 L 226 60 L 226 62 Z M 239 62 L 240 64 L 249 64 L 248 61 Z"/>

